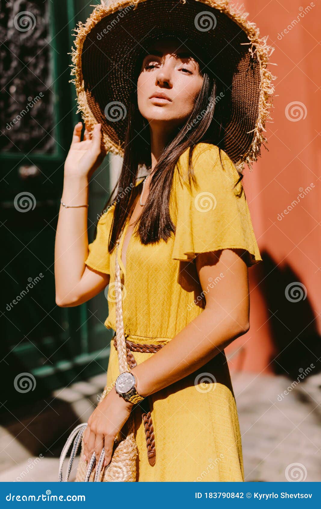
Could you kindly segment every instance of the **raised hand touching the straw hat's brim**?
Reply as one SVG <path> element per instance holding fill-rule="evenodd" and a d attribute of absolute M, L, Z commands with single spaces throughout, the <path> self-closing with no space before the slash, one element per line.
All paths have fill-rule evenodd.
<path fill-rule="evenodd" d="M 90 133 L 85 126 L 83 141 L 80 141 L 82 123 L 75 125 L 72 142 L 65 161 L 65 176 L 91 178 L 102 163 L 106 149 L 102 143 L 101 124 L 96 124 Z"/>

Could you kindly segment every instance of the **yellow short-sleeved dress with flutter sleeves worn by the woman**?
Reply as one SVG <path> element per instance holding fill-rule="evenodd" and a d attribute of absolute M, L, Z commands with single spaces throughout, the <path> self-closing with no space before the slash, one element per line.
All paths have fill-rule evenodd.
<path fill-rule="evenodd" d="M 221 162 L 224 169 L 222 168 Z M 247 251 L 248 267 L 261 261 L 242 183 L 228 156 L 215 145 L 199 143 L 192 157 L 196 183 L 188 183 L 188 151 L 175 168 L 170 214 L 176 234 L 165 242 L 143 245 L 131 235 L 126 270 L 121 260 L 127 218 L 118 261 L 123 287 L 125 334 L 135 343 L 166 344 L 202 313 L 205 298 L 195 256 L 224 248 Z M 141 193 L 142 179 L 133 192 Z M 110 274 L 108 317 L 115 330 L 115 249 L 107 245 L 114 205 L 99 219 L 97 235 L 85 263 Z M 137 364 L 157 353 L 133 352 Z M 118 356 L 110 342 L 107 386 L 119 375 Z M 191 375 L 149 397 L 156 464 L 148 462 L 141 410 L 133 409 L 138 446 L 137 481 L 244 481 L 241 434 L 234 392 L 224 351 Z"/>

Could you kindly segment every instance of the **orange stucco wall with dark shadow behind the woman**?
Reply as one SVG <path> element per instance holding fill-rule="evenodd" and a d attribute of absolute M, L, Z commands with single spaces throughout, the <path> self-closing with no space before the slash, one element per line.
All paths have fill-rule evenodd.
<path fill-rule="evenodd" d="M 295 375 L 320 356 L 320 4 L 244 2 L 277 79 L 269 151 L 243 180 L 264 261 L 249 269 L 251 327 L 225 350 L 231 371 Z"/>

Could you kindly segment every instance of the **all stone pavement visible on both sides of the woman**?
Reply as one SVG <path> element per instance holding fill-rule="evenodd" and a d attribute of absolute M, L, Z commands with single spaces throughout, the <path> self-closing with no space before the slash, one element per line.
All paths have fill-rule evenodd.
<path fill-rule="evenodd" d="M 319 482 L 321 374 L 310 375 L 292 386 L 283 376 L 231 373 L 231 379 L 239 413 L 246 482 Z M 56 393 L 69 403 L 74 414 L 81 415 L 81 422 L 86 422 L 104 381 L 105 375 L 100 375 Z M 0 428 L 0 446 L 0 482 L 57 480 L 58 453 L 55 457 L 30 457 L 28 449 L 4 428 Z M 70 480 L 73 478 L 72 474 Z"/>

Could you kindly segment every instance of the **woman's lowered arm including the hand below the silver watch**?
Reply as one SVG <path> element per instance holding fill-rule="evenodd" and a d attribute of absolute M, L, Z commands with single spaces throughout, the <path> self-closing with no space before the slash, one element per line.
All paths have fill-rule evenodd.
<path fill-rule="evenodd" d="M 221 254 L 217 251 L 197 255 L 196 268 L 206 308 L 156 354 L 131 370 L 137 377 L 140 395 L 153 394 L 193 373 L 249 330 L 248 270 L 236 251 L 224 249 Z M 213 281 L 217 281 L 215 285 L 211 285 Z M 109 464 L 114 438 L 132 407 L 114 387 L 107 393 L 88 420 L 83 460 L 89 460 L 95 451 L 98 462 L 104 447 L 104 465 Z"/>

